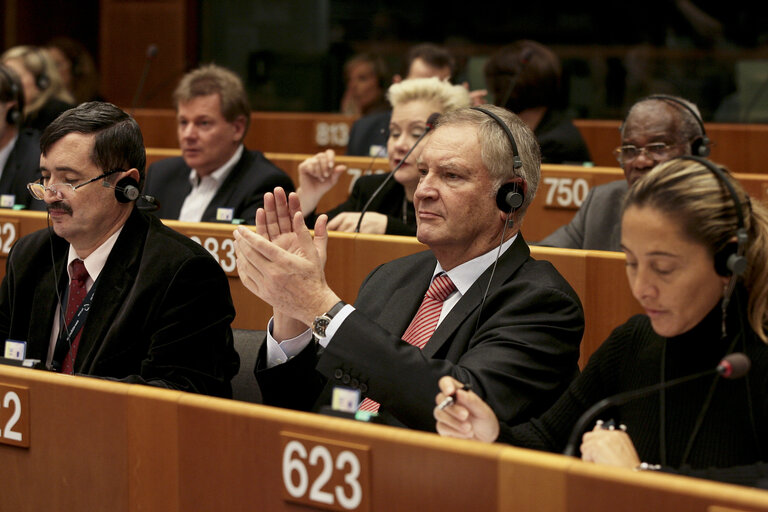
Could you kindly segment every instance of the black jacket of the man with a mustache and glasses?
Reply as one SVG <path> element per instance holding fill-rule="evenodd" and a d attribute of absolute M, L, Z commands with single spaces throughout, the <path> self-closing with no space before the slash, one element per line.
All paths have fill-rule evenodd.
<path fill-rule="evenodd" d="M 47 358 L 68 250 L 41 230 L 8 257 L 0 338 L 26 341 L 28 358 Z M 134 209 L 94 286 L 75 373 L 232 396 L 235 311 L 224 271 L 200 245 Z"/>

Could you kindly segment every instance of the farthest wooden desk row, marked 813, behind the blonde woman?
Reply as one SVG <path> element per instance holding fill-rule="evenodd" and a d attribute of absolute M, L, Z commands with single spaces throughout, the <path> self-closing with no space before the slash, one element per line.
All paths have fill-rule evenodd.
<path fill-rule="evenodd" d="M 135 109 L 147 147 L 175 148 L 176 112 L 172 109 Z M 272 153 L 310 153 L 327 148 L 346 150 L 355 117 L 330 113 L 254 112 L 245 138 L 249 149 Z M 621 140 L 621 121 L 577 119 L 574 124 L 589 148 L 594 165 L 615 166 L 613 150 Z M 765 173 L 768 125 L 705 123 L 713 141 L 710 158 L 733 172 Z"/>

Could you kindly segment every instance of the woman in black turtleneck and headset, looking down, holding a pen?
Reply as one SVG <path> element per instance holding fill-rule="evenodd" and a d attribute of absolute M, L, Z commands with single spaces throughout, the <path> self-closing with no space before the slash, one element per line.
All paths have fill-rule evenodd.
<path fill-rule="evenodd" d="M 603 411 L 598 417 L 616 428 L 598 423 L 584 434 L 582 459 L 736 483 L 764 478 L 758 463 L 768 461 L 768 211 L 725 171 L 686 156 L 632 186 L 621 233 L 629 285 L 646 314 L 616 328 L 539 418 L 499 425 L 477 395 L 459 391 L 457 405 L 435 408 L 438 431 L 562 452 L 591 405 L 702 372 Z M 715 374 L 734 352 L 751 360 L 746 377 Z M 443 378 L 436 400 L 460 386 Z M 750 465 L 754 472 L 744 468 Z"/>

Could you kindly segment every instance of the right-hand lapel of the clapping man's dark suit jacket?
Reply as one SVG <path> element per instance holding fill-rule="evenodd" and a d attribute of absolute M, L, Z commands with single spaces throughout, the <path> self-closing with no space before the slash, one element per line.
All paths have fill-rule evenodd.
<path fill-rule="evenodd" d="M 517 271 L 518 268 L 528 259 L 530 255 L 530 249 L 523 240 L 522 234 L 517 235 L 517 239 L 512 243 L 512 246 L 501 255 L 499 263 L 496 266 L 496 272 L 493 276 L 493 283 L 488 290 L 488 294 L 494 293 L 494 291 L 509 277 Z M 458 303 L 451 309 L 440 325 L 435 330 L 435 333 L 429 339 L 427 344 L 422 349 L 425 357 L 431 358 L 440 350 L 440 347 L 445 344 L 446 341 L 451 339 L 456 330 L 472 315 L 472 313 L 480 307 L 480 302 L 483 300 L 483 294 L 485 288 L 488 286 L 488 279 L 491 277 L 491 270 L 493 265 L 487 268 L 480 277 L 472 284 L 467 290 L 467 293 L 459 300 Z M 426 290 L 425 290 L 426 293 Z M 472 326 L 474 330 L 474 326 Z"/>

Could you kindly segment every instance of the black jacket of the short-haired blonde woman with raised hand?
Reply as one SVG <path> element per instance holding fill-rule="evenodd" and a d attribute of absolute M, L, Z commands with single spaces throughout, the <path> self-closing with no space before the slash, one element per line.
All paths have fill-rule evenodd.
<path fill-rule="evenodd" d="M 325 212 L 328 218 L 332 219 L 342 212 L 362 211 L 365 203 L 368 202 L 387 176 L 389 173 L 369 174 L 355 180 L 352 193 L 347 200 L 333 210 Z M 405 199 L 405 189 L 394 178 L 384 185 L 379 195 L 371 202 L 368 211 L 383 213 L 387 216 L 387 229 L 385 231 L 387 235 L 416 236 L 416 211 L 413 209 L 413 203 Z M 314 226 L 316 219 L 317 214 L 308 216 L 307 225 Z"/>

